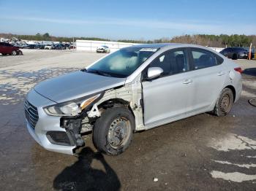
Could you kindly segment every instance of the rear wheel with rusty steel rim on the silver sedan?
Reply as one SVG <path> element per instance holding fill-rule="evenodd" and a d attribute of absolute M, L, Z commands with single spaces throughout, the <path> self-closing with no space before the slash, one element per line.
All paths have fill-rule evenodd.
<path fill-rule="evenodd" d="M 225 116 L 232 109 L 234 103 L 234 95 L 230 88 L 225 88 L 219 95 L 217 103 L 214 108 L 214 114 L 217 116 Z"/>

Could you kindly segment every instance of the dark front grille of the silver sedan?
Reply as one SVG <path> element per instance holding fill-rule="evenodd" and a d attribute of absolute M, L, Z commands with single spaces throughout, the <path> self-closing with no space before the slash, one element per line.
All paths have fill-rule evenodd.
<path fill-rule="evenodd" d="M 25 99 L 24 102 L 24 109 L 25 109 L 25 115 L 26 120 L 29 122 L 32 128 L 34 128 L 37 125 L 38 121 L 38 112 L 37 107 L 33 106 Z"/>

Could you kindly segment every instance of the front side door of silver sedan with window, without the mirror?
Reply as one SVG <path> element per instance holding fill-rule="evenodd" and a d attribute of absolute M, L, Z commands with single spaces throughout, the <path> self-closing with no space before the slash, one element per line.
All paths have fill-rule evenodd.
<path fill-rule="evenodd" d="M 142 81 L 144 123 L 148 127 L 186 114 L 192 87 L 185 48 L 162 53 L 149 67 L 161 67 L 164 73 L 157 79 Z"/>

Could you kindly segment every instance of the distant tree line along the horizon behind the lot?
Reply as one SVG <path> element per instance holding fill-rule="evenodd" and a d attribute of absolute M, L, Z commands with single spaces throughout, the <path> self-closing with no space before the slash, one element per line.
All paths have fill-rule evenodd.
<path fill-rule="evenodd" d="M 18 34 L 0 34 L 1 37 L 11 39 L 16 37 L 17 39 L 23 40 L 35 40 L 35 41 L 57 41 L 57 42 L 72 42 L 72 37 L 60 37 L 50 36 L 50 34 L 36 34 L 36 35 L 18 35 Z M 74 40 L 98 40 L 98 41 L 110 41 L 110 39 L 102 39 L 97 37 L 74 37 Z M 208 34 L 195 34 L 195 35 L 182 35 L 174 36 L 173 38 L 162 38 L 154 40 L 131 40 L 131 39 L 120 39 L 118 42 L 129 42 L 129 43 L 188 43 L 188 44 L 200 44 L 208 47 L 249 47 L 252 43 L 253 46 L 256 44 L 256 35 L 238 35 L 238 34 L 220 34 L 220 35 L 208 35 Z"/>

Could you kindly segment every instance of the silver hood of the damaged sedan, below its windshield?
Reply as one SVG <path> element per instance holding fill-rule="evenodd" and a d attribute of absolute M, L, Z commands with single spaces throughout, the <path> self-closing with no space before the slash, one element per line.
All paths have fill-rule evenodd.
<path fill-rule="evenodd" d="M 34 90 L 51 101 L 61 103 L 124 85 L 125 79 L 75 71 L 39 82 Z"/>

